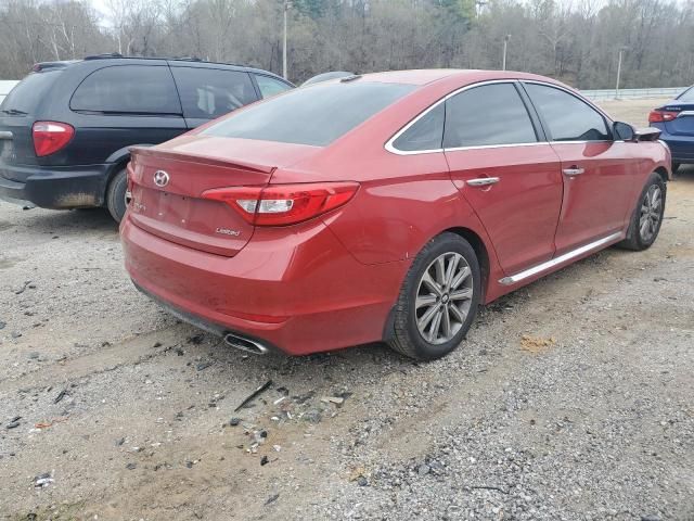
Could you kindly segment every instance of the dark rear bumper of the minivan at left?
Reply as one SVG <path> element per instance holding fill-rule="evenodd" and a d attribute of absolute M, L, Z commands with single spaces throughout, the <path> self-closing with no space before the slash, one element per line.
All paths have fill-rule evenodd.
<path fill-rule="evenodd" d="M 111 166 L 42 167 L 0 163 L 0 200 L 50 209 L 102 206 Z"/>

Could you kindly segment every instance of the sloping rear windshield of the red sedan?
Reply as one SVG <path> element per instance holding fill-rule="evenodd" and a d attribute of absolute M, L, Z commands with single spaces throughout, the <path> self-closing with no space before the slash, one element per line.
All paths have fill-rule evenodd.
<path fill-rule="evenodd" d="M 252 105 L 201 134 L 324 147 L 414 89 L 359 80 L 317 85 Z"/>

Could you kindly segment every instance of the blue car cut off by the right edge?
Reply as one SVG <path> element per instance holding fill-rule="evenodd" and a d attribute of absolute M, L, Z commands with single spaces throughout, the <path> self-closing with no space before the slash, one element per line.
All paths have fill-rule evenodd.
<path fill-rule="evenodd" d="M 682 164 L 694 164 L 694 86 L 651 111 L 648 123 L 660 129 L 660 139 L 670 147 L 672 173 Z"/>

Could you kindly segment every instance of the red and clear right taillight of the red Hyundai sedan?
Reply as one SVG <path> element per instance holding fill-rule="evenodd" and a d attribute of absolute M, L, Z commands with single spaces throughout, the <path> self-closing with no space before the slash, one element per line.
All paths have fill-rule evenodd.
<path fill-rule="evenodd" d="M 252 225 L 286 226 L 338 208 L 358 189 L 357 182 L 230 187 L 206 190 L 203 198 L 229 204 Z"/>

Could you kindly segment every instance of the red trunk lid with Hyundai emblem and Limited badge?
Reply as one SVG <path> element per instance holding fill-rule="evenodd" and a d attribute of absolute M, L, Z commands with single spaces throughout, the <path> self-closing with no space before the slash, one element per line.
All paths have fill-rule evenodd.
<path fill-rule="evenodd" d="M 132 149 L 132 223 L 162 239 L 232 257 L 254 226 L 234 208 L 203 199 L 214 188 L 266 186 L 278 167 L 313 153 L 314 147 L 206 136 L 183 136 L 153 148 Z M 166 173 L 167 182 L 163 182 Z"/>

